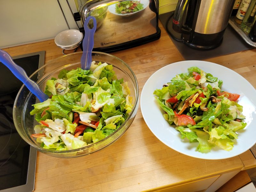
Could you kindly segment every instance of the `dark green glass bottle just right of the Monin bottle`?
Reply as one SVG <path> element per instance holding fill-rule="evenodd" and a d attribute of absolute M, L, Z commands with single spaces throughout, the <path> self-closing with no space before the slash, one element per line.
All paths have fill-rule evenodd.
<path fill-rule="evenodd" d="M 246 33 L 250 33 L 253 23 L 255 22 L 256 14 L 256 0 L 252 0 L 244 19 L 240 25 L 240 28 Z"/>

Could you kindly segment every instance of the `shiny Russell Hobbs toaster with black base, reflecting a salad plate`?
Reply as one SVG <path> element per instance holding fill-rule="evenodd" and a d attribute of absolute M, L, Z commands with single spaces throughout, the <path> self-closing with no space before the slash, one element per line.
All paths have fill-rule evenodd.
<path fill-rule="evenodd" d="M 160 38 L 158 0 L 75 0 L 75 3 L 78 12 L 74 13 L 74 19 L 81 22 L 81 32 L 84 33 L 86 17 L 96 19 L 93 51 L 120 51 Z M 90 28 L 90 22 L 88 25 Z"/>

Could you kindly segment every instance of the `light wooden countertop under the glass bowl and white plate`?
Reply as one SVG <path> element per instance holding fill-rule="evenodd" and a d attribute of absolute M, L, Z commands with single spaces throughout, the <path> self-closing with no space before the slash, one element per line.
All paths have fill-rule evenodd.
<path fill-rule="evenodd" d="M 161 38 L 132 49 L 111 53 L 134 71 L 141 92 L 159 68 L 184 60 L 162 24 Z M 4 49 L 11 56 L 46 51 L 45 63 L 62 55 L 54 40 Z M 207 59 L 244 76 L 256 87 L 256 49 Z M 37 153 L 35 192 L 142 191 L 178 185 L 252 168 L 256 160 L 248 150 L 228 159 L 204 160 L 180 154 L 165 146 L 148 129 L 140 108 L 125 134 L 112 145 L 89 156 L 56 158 Z"/>

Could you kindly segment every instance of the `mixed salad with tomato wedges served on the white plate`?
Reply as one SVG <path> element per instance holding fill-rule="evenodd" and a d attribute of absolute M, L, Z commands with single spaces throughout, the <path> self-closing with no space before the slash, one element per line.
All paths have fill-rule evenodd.
<path fill-rule="evenodd" d="M 221 91 L 222 81 L 197 67 L 188 68 L 154 91 L 156 101 L 165 111 L 164 119 L 175 124 L 181 138 L 199 142 L 196 150 L 209 152 L 218 146 L 233 148 L 236 131 L 246 123 L 239 94 Z"/>

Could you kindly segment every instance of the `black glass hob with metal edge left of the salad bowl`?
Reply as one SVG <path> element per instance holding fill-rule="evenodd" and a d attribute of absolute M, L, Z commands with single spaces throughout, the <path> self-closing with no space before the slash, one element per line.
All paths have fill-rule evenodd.
<path fill-rule="evenodd" d="M 30 76 L 44 65 L 45 51 L 12 57 Z M 37 79 L 32 79 L 37 81 Z M 0 191 L 34 190 L 36 149 L 21 139 L 12 117 L 13 103 L 22 86 L 12 72 L 0 62 Z"/>

